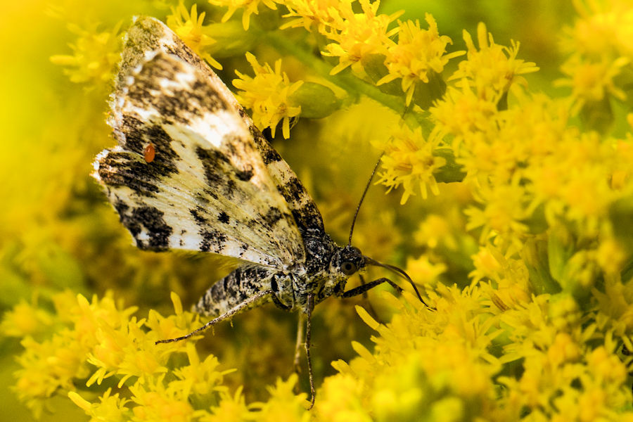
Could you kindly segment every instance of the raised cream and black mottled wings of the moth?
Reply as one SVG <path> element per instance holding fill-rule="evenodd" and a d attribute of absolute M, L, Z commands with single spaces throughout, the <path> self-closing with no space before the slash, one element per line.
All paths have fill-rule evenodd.
<path fill-rule="evenodd" d="M 305 261 L 300 229 L 323 227 L 312 199 L 169 28 L 136 20 L 116 84 L 109 123 L 118 144 L 98 155 L 94 177 L 139 248 L 201 250 L 279 269 Z M 314 207 L 308 217 L 298 213 L 305 207 Z"/>

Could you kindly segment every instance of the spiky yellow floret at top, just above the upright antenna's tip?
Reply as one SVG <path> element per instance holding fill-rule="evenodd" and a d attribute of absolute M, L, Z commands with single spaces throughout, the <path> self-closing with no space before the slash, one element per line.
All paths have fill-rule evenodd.
<path fill-rule="evenodd" d="M 433 16 L 426 13 L 428 30 L 421 30 L 420 23 L 411 20 L 400 22 L 398 43 L 388 46 L 385 65 L 389 73 L 377 85 L 402 78 L 402 91 L 407 94 L 407 106 L 411 103 L 416 84 L 429 82 L 431 72 L 442 73 L 451 58 L 461 56 L 463 51 L 446 54 L 446 46 L 452 41 L 446 35 L 440 36 Z"/>

